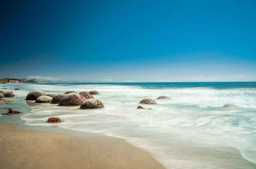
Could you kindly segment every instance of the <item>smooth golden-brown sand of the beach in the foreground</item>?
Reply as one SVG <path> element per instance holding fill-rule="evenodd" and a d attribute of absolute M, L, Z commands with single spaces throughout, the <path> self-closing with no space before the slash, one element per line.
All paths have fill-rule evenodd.
<path fill-rule="evenodd" d="M 34 132 L 0 123 L 1 169 L 162 169 L 122 139 Z"/>

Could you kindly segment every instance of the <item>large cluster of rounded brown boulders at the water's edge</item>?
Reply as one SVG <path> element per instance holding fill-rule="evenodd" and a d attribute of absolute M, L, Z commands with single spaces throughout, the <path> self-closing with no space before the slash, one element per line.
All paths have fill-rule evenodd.
<path fill-rule="evenodd" d="M 40 90 L 29 92 L 26 100 L 36 100 L 35 103 L 52 103 L 59 106 L 80 106 L 80 109 L 104 108 L 100 100 L 94 99 L 92 94 L 100 94 L 98 91 L 74 92 L 68 91 L 64 94 L 46 94 Z"/>

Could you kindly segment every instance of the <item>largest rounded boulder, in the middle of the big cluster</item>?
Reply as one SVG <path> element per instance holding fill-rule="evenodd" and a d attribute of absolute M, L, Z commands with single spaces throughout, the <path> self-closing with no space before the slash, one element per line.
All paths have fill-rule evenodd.
<path fill-rule="evenodd" d="M 85 100 L 81 94 L 69 93 L 60 100 L 59 106 L 78 106 L 83 104 Z"/>

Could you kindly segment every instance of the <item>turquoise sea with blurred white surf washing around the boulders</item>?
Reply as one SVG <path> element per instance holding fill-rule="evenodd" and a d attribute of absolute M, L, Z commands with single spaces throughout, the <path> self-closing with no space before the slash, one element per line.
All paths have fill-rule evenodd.
<path fill-rule="evenodd" d="M 256 82 L 207 83 L 77 83 L 1 84 L 15 97 L 0 102 L 22 114 L 0 116 L 0 122 L 20 127 L 82 131 L 123 138 L 143 148 L 166 168 L 256 168 Z M 20 91 L 13 90 L 20 88 Z M 1 89 L 0 89 L 1 90 Z M 81 110 L 56 104 L 29 106 L 32 90 L 47 94 L 97 90 L 104 109 Z M 167 95 L 170 100 L 157 100 Z M 156 105 L 140 105 L 143 98 Z M 5 104 L 9 103 L 9 104 Z M 240 109 L 221 108 L 235 104 Z M 152 108 L 140 110 L 138 106 Z M 6 111 L 0 109 L 0 112 Z M 57 116 L 63 122 L 45 123 Z M 62 131 L 62 130 L 61 130 Z"/>

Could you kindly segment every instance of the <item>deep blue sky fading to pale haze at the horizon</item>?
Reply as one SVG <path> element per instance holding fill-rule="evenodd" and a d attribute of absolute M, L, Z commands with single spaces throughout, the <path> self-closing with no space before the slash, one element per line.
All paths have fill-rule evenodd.
<path fill-rule="evenodd" d="M 256 81 L 256 1 L 6 1 L 0 78 Z"/>

